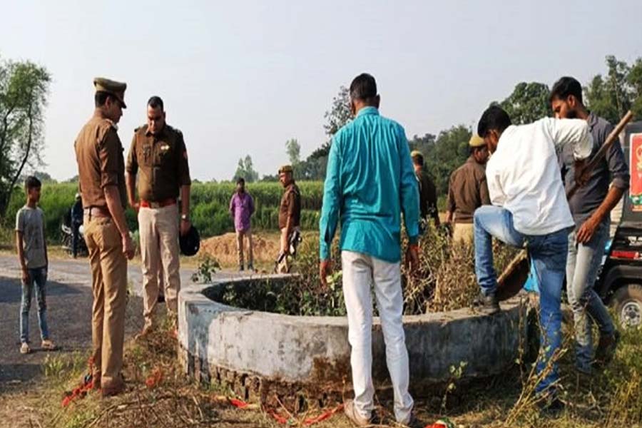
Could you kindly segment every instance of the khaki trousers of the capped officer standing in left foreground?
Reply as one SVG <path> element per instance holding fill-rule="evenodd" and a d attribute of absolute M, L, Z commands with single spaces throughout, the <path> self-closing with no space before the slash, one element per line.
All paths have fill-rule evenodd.
<path fill-rule="evenodd" d="M 117 388 L 123 382 L 127 259 L 121 234 L 111 218 L 86 216 L 84 224 L 93 291 L 93 379 L 103 389 Z"/>

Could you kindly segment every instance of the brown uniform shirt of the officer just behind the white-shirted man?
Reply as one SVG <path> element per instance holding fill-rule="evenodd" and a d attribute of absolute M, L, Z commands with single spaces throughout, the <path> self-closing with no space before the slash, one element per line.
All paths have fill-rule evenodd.
<path fill-rule="evenodd" d="M 454 223 L 472 223 L 481 205 L 490 205 L 486 168 L 470 156 L 450 175 L 446 206 L 454 214 Z"/>

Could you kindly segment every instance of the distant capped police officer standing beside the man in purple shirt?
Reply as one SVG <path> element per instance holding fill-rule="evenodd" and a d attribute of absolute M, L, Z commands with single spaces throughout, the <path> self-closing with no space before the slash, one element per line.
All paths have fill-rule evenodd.
<path fill-rule="evenodd" d="M 279 208 L 279 229 L 281 230 L 280 255 L 285 255 L 278 267 L 279 272 L 289 272 L 287 254 L 290 253 L 292 233 L 300 230 L 301 223 L 301 193 L 295 183 L 292 166 L 283 165 L 279 168 L 279 182 L 285 188 Z"/>

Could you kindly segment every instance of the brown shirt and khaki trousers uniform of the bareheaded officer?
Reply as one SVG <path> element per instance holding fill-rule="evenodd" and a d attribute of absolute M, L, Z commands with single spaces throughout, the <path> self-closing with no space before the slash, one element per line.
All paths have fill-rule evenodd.
<path fill-rule="evenodd" d="M 147 125 L 137 128 L 127 158 L 127 172 L 138 174 L 138 230 L 141 237 L 145 327 L 153 314 L 164 282 L 170 316 L 178 314 L 180 291 L 178 202 L 180 187 L 190 185 L 190 170 L 183 133 L 165 124 L 153 134 Z M 143 206 L 149 205 L 149 206 Z"/>

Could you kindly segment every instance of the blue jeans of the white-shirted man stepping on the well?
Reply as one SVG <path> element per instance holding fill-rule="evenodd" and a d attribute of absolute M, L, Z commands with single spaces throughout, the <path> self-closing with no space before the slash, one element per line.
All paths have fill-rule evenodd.
<path fill-rule="evenodd" d="M 558 367 L 551 357 L 561 345 L 561 288 L 568 252 L 569 230 L 549 235 L 523 235 L 513 226 L 513 215 L 504 208 L 483 205 L 475 210 L 475 274 L 484 295 L 494 295 L 497 275 L 493 267 L 492 238 L 522 248 L 526 245 L 539 283 L 540 357 L 537 373 L 550 370 L 537 384 L 536 392 L 554 392 L 559 381 Z M 550 367 L 549 367 L 550 365 Z"/>

